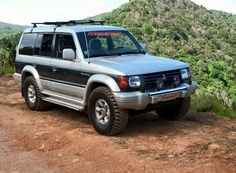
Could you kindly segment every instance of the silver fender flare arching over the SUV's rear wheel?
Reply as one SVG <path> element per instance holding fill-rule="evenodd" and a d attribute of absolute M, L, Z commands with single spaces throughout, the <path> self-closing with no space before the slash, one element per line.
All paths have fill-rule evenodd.
<path fill-rule="evenodd" d="M 42 87 L 42 84 L 40 82 L 40 77 L 39 77 L 39 74 L 37 72 L 37 70 L 30 66 L 30 65 L 27 65 L 23 68 L 22 70 L 22 74 L 21 74 L 21 83 L 23 84 L 25 78 L 27 77 L 27 73 L 30 73 L 33 75 L 38 87 L 39 87 L 39 90 L 42 91 L 43 90 L 43 87 Z"/>

